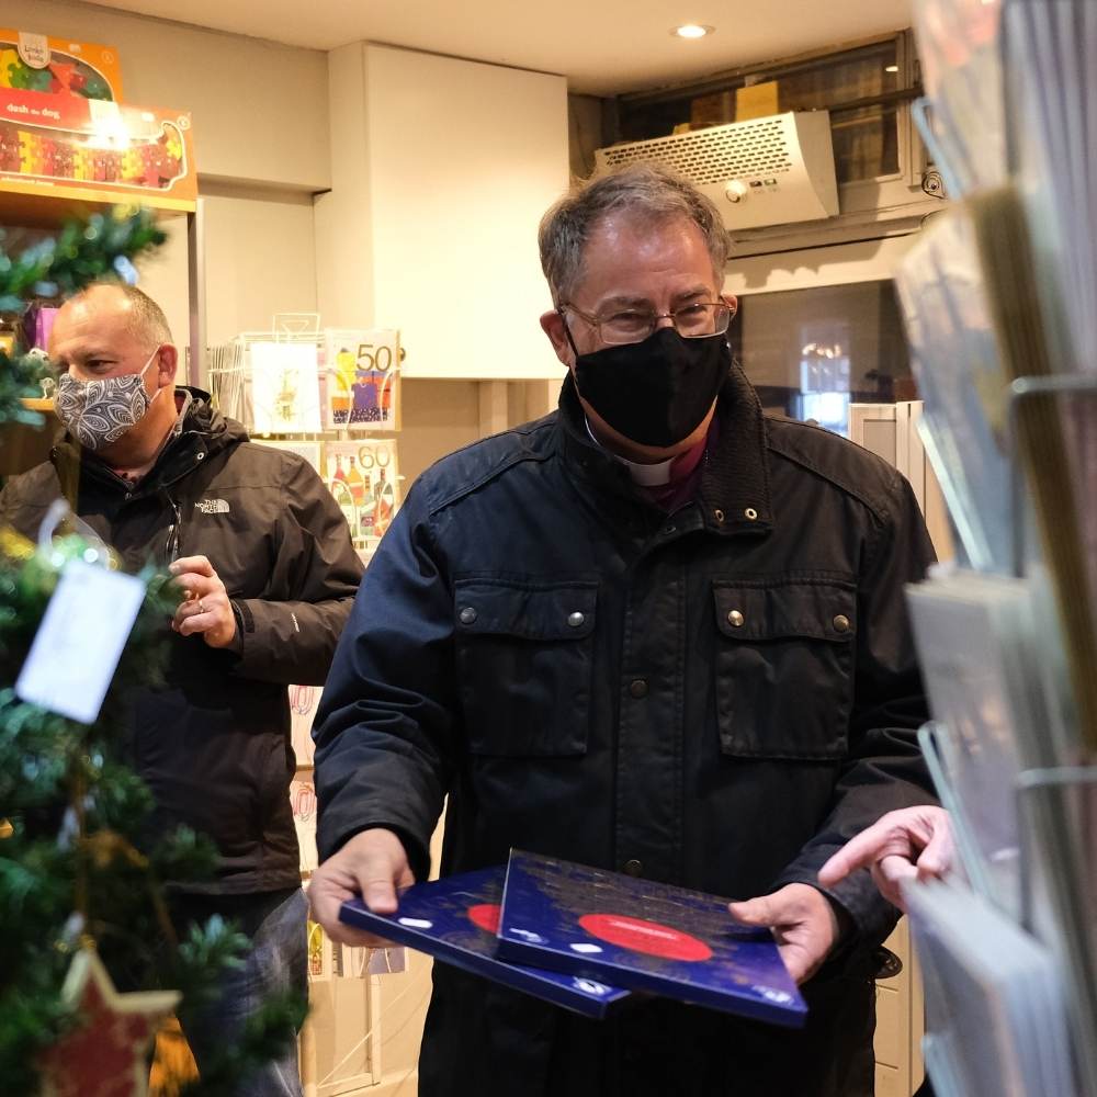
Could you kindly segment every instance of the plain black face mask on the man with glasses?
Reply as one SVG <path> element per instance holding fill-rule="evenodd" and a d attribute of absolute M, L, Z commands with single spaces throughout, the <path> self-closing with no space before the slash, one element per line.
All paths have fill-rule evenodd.
<path fill-rule="evenodd" d="M 731 369 L 723 335 L 683 339 L 658 328 L 643 342 L 576 355 L 575 384 L 619 434 L 665 449 L 697 430 Z"/>

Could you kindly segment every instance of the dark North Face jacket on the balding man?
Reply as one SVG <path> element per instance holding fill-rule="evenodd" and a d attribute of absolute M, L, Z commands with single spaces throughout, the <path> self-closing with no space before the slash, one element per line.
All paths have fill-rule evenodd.
<path fill-rule="evenodd" d="M 362 566 L 313 468 L 249 442 L 206 394 L 190 393 L 181 433 L 136 487 L 66 438 L 52 461 L 8 483 L 0 525 L 36 538 L 64 483 L 127 568 L 208 556 L 242 629 L 225 651 L 170 635 L 163 688 L 133 700 L 134 762 L 156 802 L 154 828 L 185 823 L 217 844 L 216 880 L 189 890 L 293 887 L 286 686 L 323 685 Z"/>

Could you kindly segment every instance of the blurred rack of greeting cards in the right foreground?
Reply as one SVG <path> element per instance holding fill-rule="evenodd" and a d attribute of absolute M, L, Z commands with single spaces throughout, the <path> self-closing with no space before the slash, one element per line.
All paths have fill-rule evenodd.
<path fill-rule="evenodd" d="M 957 201 L 897 285 L 959 566 L 909 592 L 959 871 L 907 900 L 941 1097 L 1097 1097 L 1097 5 L 918 0 Z"/>

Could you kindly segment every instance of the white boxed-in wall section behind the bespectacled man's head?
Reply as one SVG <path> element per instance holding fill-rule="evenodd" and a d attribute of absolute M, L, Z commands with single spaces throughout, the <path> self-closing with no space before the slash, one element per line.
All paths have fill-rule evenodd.
<path fill-rule="evenodd" d="M 373 44 L 330 72 L 321 313 L 399 328 L 408 377 L 558 377 L 536 227 L 567 186 L 565 80 Z"/>

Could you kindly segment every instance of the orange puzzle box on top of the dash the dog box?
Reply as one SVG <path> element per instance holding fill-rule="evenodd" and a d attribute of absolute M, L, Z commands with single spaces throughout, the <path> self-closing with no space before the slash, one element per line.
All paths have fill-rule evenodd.
<path fill-rule="evenodd" d="M 91 42 L 0 30 L 0 88 L 120 102 L 118 52 Z"/>

